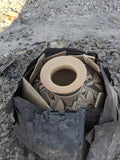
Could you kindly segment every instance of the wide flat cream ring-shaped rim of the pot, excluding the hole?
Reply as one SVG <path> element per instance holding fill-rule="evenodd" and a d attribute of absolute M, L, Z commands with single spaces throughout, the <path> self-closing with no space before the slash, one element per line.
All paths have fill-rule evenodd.
<path fill-rule="evenodd" d="M 75 80 L 66 86 L 60 86 L 52 81 L 52 75 L 62 69 L 69 69 L 76 73 Z M 81 76 L 82 75 L 82 76 Z M 40 79 L 43 86 L 56 94 L 71 94 L 78 90 L 87 78 L 87 69 L 85 64 L 72 56 L 55 57 L 45 63 L 40 72 Z"/>

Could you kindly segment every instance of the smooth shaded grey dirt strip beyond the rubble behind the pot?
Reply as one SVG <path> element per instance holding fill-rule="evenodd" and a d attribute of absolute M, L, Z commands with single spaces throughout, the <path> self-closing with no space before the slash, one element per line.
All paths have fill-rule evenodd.
<path fill-rule="evenodd" d="M 0 55 L 56 39 L 75 41 L 89 37 L 117 43 L 119 26 L 117 0 L 29 0 L 18 19 L 1 33 Z"/>

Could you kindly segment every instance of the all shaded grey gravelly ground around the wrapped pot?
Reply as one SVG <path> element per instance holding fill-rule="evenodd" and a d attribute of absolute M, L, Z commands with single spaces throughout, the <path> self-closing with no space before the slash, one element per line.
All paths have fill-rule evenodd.
<path fill-rule="evenodd" d="M 0 21 L 1 28 L 4 23 Z M 47 47 L 93 51 L 109 67 L 114 88 L 120 93 L 119 35 L 120 1 L 26 2 L 19 17 L 0 33 L 0 66 L 7 59 L 15 59 L 0 76 L 0 160 L 39 160 L 15 138 L 12 114 L 2 119 L 26 66 Z"/>

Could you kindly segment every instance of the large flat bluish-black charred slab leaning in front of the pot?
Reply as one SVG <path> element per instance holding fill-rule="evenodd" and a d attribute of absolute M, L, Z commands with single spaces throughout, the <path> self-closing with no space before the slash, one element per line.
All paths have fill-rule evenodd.
<path fill-rule="evenodd" d="M 82 160 L 85 110 L 41 113 L 39 107 L 14 98 L 17 138 L 43 160 Z M 36 108 L 37 107 L 37 108 Z"/>

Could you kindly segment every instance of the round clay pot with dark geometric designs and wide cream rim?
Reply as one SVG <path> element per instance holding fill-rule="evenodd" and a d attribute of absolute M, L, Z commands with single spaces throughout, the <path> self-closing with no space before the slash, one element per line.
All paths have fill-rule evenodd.
<path fill-rule="evenodd" d="M 81 66 L 84 66 L 83 69 Z M 85 80 L 81 82 L 83 77 Z M 76 79 L 79 82 L 73 85 L 77 83 Z M 33 87 L 54 111 L 66 110 L 68 107 L 69 110 L 94 108 L 98 94 L 104 93 L 103 80 L 93 65 L 85 64 L 78 58 L 76 61 L 74 56 L 58 56 L 48 60 L 42 66 Z"/>

